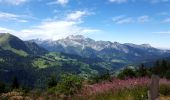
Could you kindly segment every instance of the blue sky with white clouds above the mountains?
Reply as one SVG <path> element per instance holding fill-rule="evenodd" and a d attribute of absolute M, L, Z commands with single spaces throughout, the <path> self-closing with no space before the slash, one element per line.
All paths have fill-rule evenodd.
<path fill-rule="evenodd" d="M 84 35 L 170 49 L 170 0 L 0 0 L 0 33 L 23 40 Z"/>

